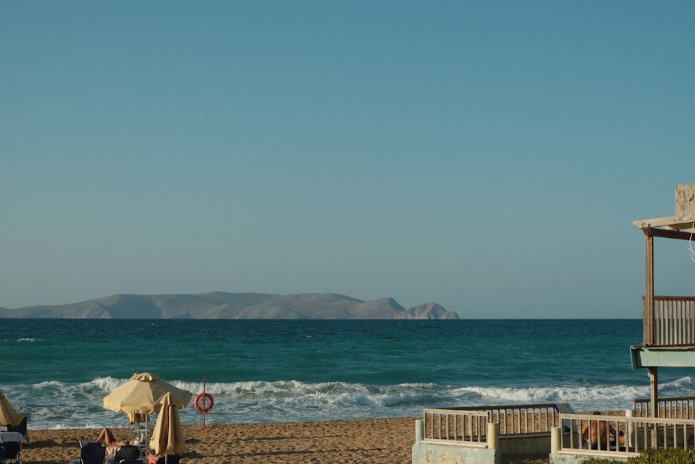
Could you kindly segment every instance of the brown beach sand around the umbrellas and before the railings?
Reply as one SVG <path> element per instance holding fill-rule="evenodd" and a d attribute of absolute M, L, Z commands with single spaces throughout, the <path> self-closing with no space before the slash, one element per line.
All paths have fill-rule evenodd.
<path fill-rule="evenodd" d="M 186 451 L 181 463 L 379 463 L 408 464 L 415 442 L 416 417 L 279 424 L 183 425 Z M 119 440 L 126 429 L 113 429 Z M 22 449 L 31 464 L 79 461 L 79 440 L 99 429 L 32 430 Z M 548 463 L 544 456 L 505 456 L 502 464 Z"/>

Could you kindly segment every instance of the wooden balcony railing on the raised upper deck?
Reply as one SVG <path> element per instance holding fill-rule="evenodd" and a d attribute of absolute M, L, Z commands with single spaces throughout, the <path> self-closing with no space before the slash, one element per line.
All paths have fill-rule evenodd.
<path fill-rule="evenodd" d="M 646 346 L 695 346 L 695 296 L 644 296 L 643 339 Z"/>

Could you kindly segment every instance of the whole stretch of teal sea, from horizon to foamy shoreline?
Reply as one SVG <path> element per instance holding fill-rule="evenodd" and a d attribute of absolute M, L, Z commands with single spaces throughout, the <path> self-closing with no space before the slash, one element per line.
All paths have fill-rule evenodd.
<path fill-rule="evenodd" d="M 413 417 L 423 408 L 649 396 L 641 320 L 0 319 L 0 391 L 31 429 L 125 426 L 101 399 L 135 372 L 213 395 L 207 424 Z M 692 369 L 660 394 L 695 395 Z M 202 423 L 191 403 L 183 424 Z"/>

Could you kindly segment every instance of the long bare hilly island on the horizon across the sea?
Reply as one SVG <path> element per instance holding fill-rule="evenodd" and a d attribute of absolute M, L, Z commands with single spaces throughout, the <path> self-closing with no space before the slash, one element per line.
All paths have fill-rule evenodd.
<path fill-rule="evenodd" d="M 14 310 L 0 318 L 55 319 L 459 319 L 436 303 L 406 310 L 393 298 L 361 301 L 340 294 L 119 294 L 96 300 Z"/>

